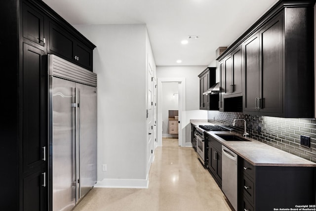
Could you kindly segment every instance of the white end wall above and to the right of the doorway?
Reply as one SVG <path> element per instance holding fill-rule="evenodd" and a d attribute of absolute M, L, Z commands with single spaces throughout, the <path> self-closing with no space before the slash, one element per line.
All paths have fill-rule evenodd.
<path fill-rule="evenodd" d="M 157 66 L 157 78 L 186 79 L 186 110 L 183 111 L 182 128 L 186 134 L 186 143 L 191 143 L 191 119 L 207 120 L 207 111 L 199 110 L 199 78 L 198 75 L 207 66 Z M 159 94 L 159 93 L 158 93 Z M 159 106 L 159 105 L 158 105 Z"/>

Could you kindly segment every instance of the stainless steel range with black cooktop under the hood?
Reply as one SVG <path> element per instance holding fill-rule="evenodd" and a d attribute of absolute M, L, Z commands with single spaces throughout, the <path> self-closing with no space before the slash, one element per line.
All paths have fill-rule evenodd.
<path fill-rule="evenodd" d="M 205 131 L 229 131 L 232 130 L 231 128 L 225 127 L 225 126 L 211 126 L 211 125 L 199 125 L 196 126 L 195 132 L 194 132 L 194 138 L 197 141 L 197 154 L 198 154 L 198 160 L 201 162 L 201 164 L 206 168 L 207 162 L 205 162 L 206 157 L 206 150 L 205 150 Z"/>

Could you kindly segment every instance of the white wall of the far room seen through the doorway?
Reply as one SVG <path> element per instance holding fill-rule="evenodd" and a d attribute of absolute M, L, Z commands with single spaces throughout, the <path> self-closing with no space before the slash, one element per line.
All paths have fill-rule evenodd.
<path fill-rule="evenodd" d="M 174 94 L 175 93 L 175 94 Z M 162 137 L 172 137 L 169 133 L 169 110 L 178 110 L 178 83 L 162 83 Z"/>

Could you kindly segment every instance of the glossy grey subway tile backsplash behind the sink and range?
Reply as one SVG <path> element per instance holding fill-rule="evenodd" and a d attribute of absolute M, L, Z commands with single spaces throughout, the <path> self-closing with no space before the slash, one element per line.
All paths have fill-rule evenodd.
<path fill-rule="evenodd" d="M 316 119 L 287 119 L 247 115 L 239 112 L 208 111 L 208 122 L 232 126 L 234 119 L 245 119 L 250 137 L 316 163 Z M 258 128 L 260 127 L 260 131 Z M 237 121 L 243 133 L 243 122 Z M 311 147 L 301 146 L 300 135 L 311 137 Z"/>

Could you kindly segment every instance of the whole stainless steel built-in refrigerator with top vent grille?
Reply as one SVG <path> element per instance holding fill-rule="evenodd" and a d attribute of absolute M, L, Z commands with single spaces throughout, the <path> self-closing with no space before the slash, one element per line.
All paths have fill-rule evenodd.
<path fill-rule="evenodd" d="M 96 74 L 56 55 L 49 71 L 49 207 L 70 211 L 96 183 Z"/>

